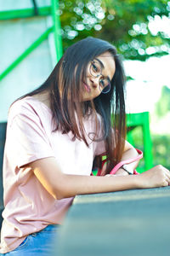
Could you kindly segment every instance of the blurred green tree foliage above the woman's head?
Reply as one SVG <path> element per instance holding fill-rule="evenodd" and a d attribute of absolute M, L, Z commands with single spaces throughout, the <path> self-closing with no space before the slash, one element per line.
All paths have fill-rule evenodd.
<path fill-rule="evenodd" d="M 59 1 L 59 12 L 64 49 L 93 36 L 115 44 L 125 59 L 169 53 L 169 34 L 156 27 L 170 16 L 167 0 L 65 0 Z"/>

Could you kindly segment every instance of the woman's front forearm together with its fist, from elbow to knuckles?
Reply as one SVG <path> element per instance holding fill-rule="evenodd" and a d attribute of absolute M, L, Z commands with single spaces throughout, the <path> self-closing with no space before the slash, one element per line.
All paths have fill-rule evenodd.
<path fill-rule="evenodd" d="M 114 192 L 126 189 L 147 189 L 170 185 L 170 172 L 163 166 L 155 166 L 139 175 L 128 176 L 80 176 L 64 174 L 60 183 L 60 198 L 81 194 Z M 57 196 L 58 198 L 58 196 Z"/>

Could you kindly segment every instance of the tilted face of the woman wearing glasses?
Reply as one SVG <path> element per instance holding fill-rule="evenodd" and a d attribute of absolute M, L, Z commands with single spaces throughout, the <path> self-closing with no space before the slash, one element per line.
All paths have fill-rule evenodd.
<path fill-rule="evenodd" d="M 107 90 L 116 71 L 110 52 L 97 56 L 88 63 L 87 75 L 82 79 L 82 102 L 93 100 L 102 90 Z"/>

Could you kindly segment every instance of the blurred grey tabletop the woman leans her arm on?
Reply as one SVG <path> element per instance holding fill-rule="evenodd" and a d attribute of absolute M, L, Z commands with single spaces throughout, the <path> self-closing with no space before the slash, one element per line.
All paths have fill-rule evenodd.
<path fill-rule="evenodd" d="M 169 256 L 170 187 L 78 195 L 59 230 L 54 252 Z"/>

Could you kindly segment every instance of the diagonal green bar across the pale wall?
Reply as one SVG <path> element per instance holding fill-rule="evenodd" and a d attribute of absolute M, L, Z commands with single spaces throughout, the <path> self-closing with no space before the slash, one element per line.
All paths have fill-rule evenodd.
<path fill-rule="evenodd" d="M 14 67 L 16 67 L 20 61 L 23 61 L 27 55 L 29 55 L 33 49 L 36 49 L 38 45 L 40 45 L 46 38 L 48 38 L 48 34 L 53 31 L 53 27 L 48 28 L 46 32 L 44 32 L 37 40 L 30 45 L 12 64 L 10 64 L 3 73 L 0 74 L 0 80 L 2 80 L 8 73 L 10 73 Z"/>

